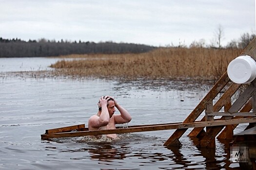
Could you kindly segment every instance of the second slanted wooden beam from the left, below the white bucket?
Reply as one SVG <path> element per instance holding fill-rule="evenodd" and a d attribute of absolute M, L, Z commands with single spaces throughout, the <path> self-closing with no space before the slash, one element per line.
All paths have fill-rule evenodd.
<path fill-rule="evenodd" d="M 232 85 L 229 86 L 229 88 L 225 91 L 225 93 L 219 98 L 219 100 L 214 104 L 213 110 L 214 111 L 219 111 L 225 104 L 226 102 L 230 101 L 231 96 L 233 96 L 236 92 L 236 90 L 241 86 L 241 84 L 236 84 L 232 83 Z M 201 121 L 205 121 L 205 117 L 201 119 Z M 194 128 L 188 136 L 198 136 L 198 134 L 203 131 L 204 127 L 201 128 Z"/>

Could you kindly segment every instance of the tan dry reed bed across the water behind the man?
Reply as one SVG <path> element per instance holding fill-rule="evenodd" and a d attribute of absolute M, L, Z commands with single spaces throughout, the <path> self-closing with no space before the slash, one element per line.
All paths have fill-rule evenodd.
<path fill-rule="evenodd" d="M 66 76 L 168 78 L 216 80 L 227 69 L 238 49 L 159 48 L 139 54 L 68 55 L 52 68 Z"/>

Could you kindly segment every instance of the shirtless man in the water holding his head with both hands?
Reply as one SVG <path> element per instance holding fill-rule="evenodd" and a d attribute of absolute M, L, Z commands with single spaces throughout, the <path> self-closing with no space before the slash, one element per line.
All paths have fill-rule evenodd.
<path fill-rule="evenodd" d="M 116 109 L 119 115 L 114 115 Z M 118 104 L 118 102 L 110 96 L 102 96 L 98 102 L 98 113 L 88 120 L 89 131 L 116 129 L 115 124 L 130 122 L 131 115 L 127 110 Z M 117 134 L 108 134 L 110 138 L 116 138 Z"/>

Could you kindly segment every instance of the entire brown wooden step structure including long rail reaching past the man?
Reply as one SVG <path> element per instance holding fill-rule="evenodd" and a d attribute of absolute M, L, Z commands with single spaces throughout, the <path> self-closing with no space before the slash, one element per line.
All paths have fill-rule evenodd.
<path fill-rule="evenodd" d="M 241 55 L 250 55 L 256 59 L 255 39 Z M 45 134 L 41 135 L 41 139 L 176 129 L 172 136 L 164 143 L 165 146 L 172 146 L 181 145 L 178 139 L 188 128 L 193 128 L 188 136 L 197 137 L 199 139 L 199 147 L 215 148 L 215 137 L 217 135 L 219 139 L 232 139 L 233 130 L 238 124 L 256 123 L 256 80 L 248 85 L 234 101 L 232 98 L 234 98 L 233 96 L 239 88 L 241 90 L 241 84 L 231 82 L 227 72 L 225 72 L 183 122 L 138 125 L 127 128 L 117 127 L 117 129 L 113 130 L 99 131 L 89 131 L 82 124 L 46 130 Z M 221 91 L 224 91 L 224 93 Z M 214 103 L 213 101 L 216 101 L 216 96 L 218 96 L 218 100 Z M 224 111 L 220 112 L 220 110 Z M 204 117 L 196 121 L 201 114 L 204 114 Z M 215 119 L 215 116 L 221 118 Z M 252 124 L 249 125 L 251 126 Z M 206 128 L 206 131 L 204 128 Z"/>

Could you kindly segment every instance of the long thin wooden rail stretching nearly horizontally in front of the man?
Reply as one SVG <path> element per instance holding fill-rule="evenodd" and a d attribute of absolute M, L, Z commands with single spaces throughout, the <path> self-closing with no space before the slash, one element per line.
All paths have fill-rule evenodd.
<path fill-rule="evenodd" d="M 175 124 L 170 124 L 170 125 L 141 126 L 141 127 L 121 128 L 121 129 L 111 129 L 111 130 L 43 134 L 43 135 L 41 135 L 41 139 L 49 139 L 49 138 L 55 138 L 55 137 L 76 137 L 76 136 L 93 136 L 93 135 L 106 135 L 106 134 L 123 134 L 123 133 L 134 133 L 134 132 L 170 130 L 170 129 L 188 129 L 188 128 L 194 128 L 194 127 L 219 126 L 219 125 L 250 123 L 250 122 L 256 122 L 256 118 L 214 120 L 214 121 L 193 122 L 193 123 L 175 123 Z"/>

